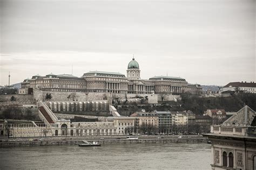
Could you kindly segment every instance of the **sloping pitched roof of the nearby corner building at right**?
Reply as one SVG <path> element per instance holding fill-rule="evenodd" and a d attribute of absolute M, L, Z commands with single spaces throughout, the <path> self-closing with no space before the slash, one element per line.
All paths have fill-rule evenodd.
<path fill-rule="evenodd" d="M 224 121 L 221 126 L 238 126 L 238 127 L 250 127 L 255 126 L 256 113 L 247 105 L 242 107 L 232 117 Z"/>

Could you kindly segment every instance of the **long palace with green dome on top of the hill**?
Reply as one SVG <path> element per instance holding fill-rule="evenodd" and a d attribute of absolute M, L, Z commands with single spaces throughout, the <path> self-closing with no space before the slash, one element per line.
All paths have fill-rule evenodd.
<path fill-rule="evenodd" d="M 127 66 L 127 77 L 122 73 L 90 71 L 82 77 L 72 74 L 35 75 L 25 79 L 19 94 L 31 93 L 33 89 L 59 92 L 110 92 L 151 94 L 165 93 L 179 95 L 190 91 L 184 78 L 169 76 L 154 76 L 149 80 L 140 78 L 138 62 L 132 58 Z M 199 91 L 202 89 L 199 89 Z"/>

